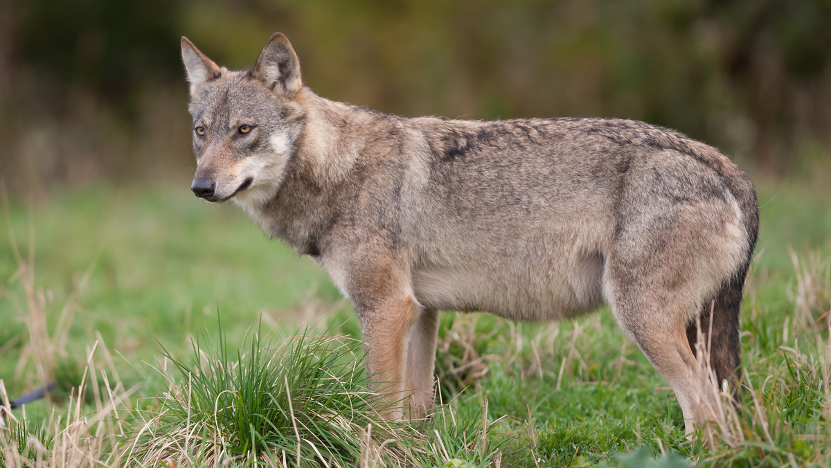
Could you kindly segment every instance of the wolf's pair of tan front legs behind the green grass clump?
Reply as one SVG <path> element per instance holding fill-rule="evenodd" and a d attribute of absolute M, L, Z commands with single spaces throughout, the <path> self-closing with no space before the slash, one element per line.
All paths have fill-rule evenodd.
<path fill-rule="evenodd" d="M 415 298 L 406 254 L 384 238 L 364 237 L 339 257 L 329 254 L 323 266 L 361 319 L 366 373 L 371 391 L 380 395 L 379 411 L 389 419 L 423 417 L 433 403 L 439 313 Z"/>

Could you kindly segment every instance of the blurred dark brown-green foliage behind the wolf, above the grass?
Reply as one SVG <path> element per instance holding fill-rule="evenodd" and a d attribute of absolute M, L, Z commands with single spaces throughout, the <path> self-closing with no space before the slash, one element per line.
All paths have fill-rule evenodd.
<path fill-rule="evenodd" d="M 244 68 L 276 31 L 318 94 L 379 111 L 649 121 L 774 180 L 829 160 L 828 0 L 5 0 L 0 179 L 187 188 L 179 37 Z"/>

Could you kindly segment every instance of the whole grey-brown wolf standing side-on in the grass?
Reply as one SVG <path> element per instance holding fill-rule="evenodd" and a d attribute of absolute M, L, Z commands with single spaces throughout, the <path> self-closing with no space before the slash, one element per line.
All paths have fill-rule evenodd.
<path fill-rule="evenodd" d="M 371 387 L 399 401 L 386 416 L 430 411 L 441 310 L 543 321 L 607 303 L 688 432 L 715 419 L 707 382 L 740 386 L 758 206 L 715 148 L 640 121 L 403 118 L 329 101 L 279 32 L 248 70 L 185 37 L 182 57 L 191 190 L 327 271 L 360 318 Z"/>

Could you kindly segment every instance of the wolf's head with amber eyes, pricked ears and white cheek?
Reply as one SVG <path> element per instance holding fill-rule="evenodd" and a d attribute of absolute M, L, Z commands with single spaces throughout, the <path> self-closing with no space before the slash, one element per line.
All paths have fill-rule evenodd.
<path fill-rule="evenodd" d="M 278 32 L 248 71 L 217 66 L 182 37 L 190 84 L 196 175 L 190 186 L 204 200 L 241 204 L 272 198 L 297 150 L 304 112 L 300 63 Z"/>

